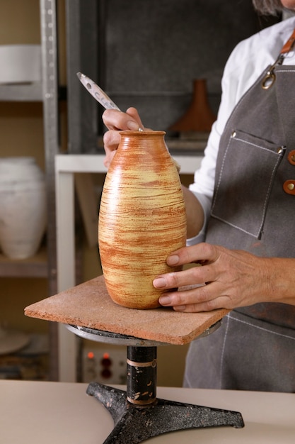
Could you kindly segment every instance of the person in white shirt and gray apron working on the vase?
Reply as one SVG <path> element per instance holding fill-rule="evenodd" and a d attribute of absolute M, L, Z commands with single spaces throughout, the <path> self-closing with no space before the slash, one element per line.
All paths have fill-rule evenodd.
<path fill-rule="evenodd" d="M 253 4 L 295 10 L 295 0 Z M 168 290 L 160 304 L 175 311 L 229 309 L 217 331 L 190 344 L 185 387 L 295 392 L 294 29 L 291 16 L 231 53 L 202 165 L 183 187 L 187 246 L 167 258 L 201 266 L 154 279 Z M 103 121 L 108 166 L 118 130 L 144 126 L 134 108 L 105 111 Z"/>

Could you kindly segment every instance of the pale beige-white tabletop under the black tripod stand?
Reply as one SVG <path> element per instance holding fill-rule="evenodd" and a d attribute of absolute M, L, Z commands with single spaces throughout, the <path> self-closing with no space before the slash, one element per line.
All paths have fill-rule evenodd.
<path fill-rule="evenodd" d="M 0 381 L 0 443 L 100 444 L 112 417 L 87 384 Z M 121 387 L 122 388 L 122 387 Z M 245 427 L 191 429 L 146 443 L 294 444 L 295 394 L 158 387 L 158 398 L 240 411 Z"/>

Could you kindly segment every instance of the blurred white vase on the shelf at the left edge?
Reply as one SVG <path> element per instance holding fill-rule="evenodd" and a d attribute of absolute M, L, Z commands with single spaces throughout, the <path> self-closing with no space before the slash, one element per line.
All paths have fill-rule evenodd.
<path fill-rule="evenodd" d="M 0 159 L 0 246 L 11 259 L 33 256 L 46 227 L 44 173 L 33 157 Z"/>

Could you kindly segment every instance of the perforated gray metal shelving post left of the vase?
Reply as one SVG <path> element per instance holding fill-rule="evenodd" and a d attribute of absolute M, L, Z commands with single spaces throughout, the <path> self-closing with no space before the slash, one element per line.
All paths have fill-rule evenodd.
<path fill-rule="evenodd" d="M 47 180 L 47 257 L 49 294 L 57 293 L 54 158 L 58 142 L 57 11 L 55 0 L 40 0 L 42 103 Z M 58 380 L 58 328 L 50 323 L 50 379 Z"/>

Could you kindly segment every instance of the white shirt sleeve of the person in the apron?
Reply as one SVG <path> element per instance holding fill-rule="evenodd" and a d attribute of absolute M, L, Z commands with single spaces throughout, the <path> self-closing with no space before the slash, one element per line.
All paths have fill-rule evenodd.
<path fill-rule="evenodd" d="M 219 140 L 231 115 L 231 111 L 243 94 L 262 74 L 262 71 L 268 65 L 274 63 L 294 28 L 294 16 L 269 28 L 265 28 L 238 43 L 226 62 L 221 80 L 221 104 L 217 119 L 209 135 L 201 167 L 195 172 L 195 182 L 189 187 L 197 196 L 204 209 L 205 222 L 202 231 L 195 238 L 187 239 L 187 245 L 193 245 L 204 240 L 214 192 Z M 284 59 L 284 65 L 295 65 L 295 52 L 293 50 Z"/>

